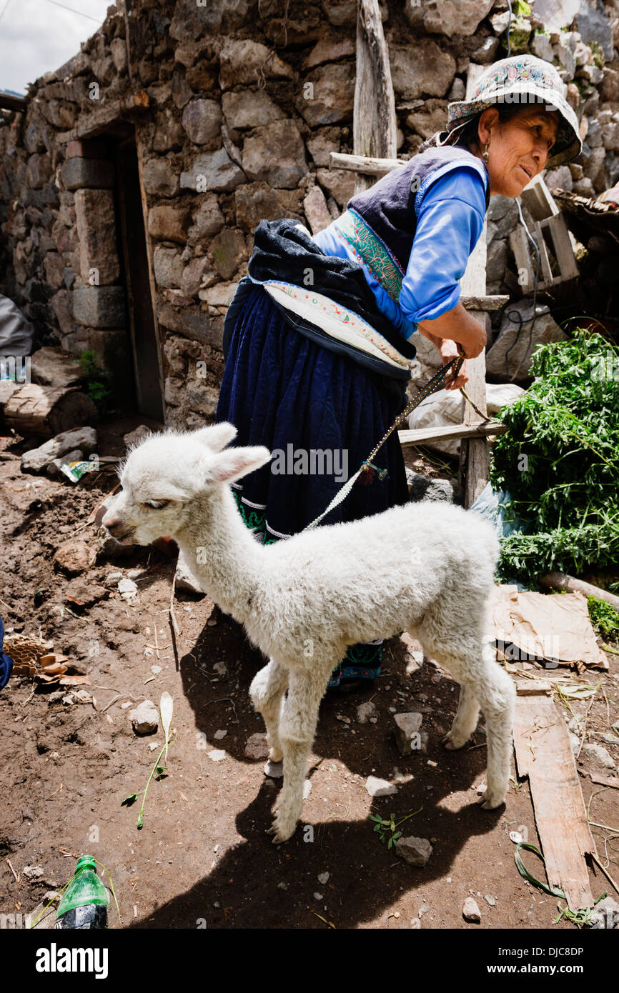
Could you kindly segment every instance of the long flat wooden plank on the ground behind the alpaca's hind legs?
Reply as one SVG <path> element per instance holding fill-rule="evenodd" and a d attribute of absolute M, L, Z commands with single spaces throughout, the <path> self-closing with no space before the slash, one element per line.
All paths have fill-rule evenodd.
<path fill-rule="evenodd" d="M 514 744 L 520 777 L 529 777 L 550 888 L 571 911 L 593 906 L 585 854 L 597 857 L 580 780 L 562 716 L 546 696 L 517 696 Z"/>

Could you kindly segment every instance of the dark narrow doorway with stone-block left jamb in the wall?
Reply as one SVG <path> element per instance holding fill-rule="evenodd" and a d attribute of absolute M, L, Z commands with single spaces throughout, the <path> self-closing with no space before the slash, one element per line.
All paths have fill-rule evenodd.
<path fill-rule="evenodd" d="M 93 140 L 92 140 L 93 139 Z M 120 406 L 163 422 L 163 371 L 134 128 L 114 121 L 71 142 L 63 170 L 75 191 L 80 338 L 112 375 Z"/>

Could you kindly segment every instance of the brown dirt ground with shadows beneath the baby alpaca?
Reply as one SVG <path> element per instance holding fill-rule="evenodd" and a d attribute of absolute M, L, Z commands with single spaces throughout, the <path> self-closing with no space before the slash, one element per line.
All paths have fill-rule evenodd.
<path fill-rule="evenodd" d="M 138 423 L 101 427 L 99 452 L 122 454 L 122 435 Z M 112 928 L 573 926 L 554 923 L 557 899 L 526 883 L 514 863 L 510 831 L 526 830 L 539 844 L 528 782 L 513 780 L 505 807 L 479 807 L 483 730 L 461 752 L 442 748 L 457 685 L 429 660 L 407 675 L 400 638 L 387 643 L 377 685 L 327 694 L 303 810 L 303 825 L 313 831 L 299 826 L 287 844 L 273 846 L 265 829 L 281 780 L 265 777 L 263 759 L 244 754 L 247 739 L 263 731 L 247 692 L 262 656 L 208 598 L 179 593 L 177 668 L 168 621 L 175 559 L 154 548 L 115 559 L 99 554 L 75 578 L 55 569 L 53 556 L 64 541 L 83 538 L 92 551 L 100 545 L 96 526 L 85 522 L 117 481 L 113 472 L 77 485 L 22 475 L 23 450 L 15 439 L 0 442 L 0 611 L 7 629 L 50 638 L 55 651 L 69 655 L 74 671 L 87 675 L 89 684 L 80 688 L 93 699 L 63 702 L 58 685 L 23 677 L 0 693 L 0 913 L 32 911 L 68 881 L 77 856 L 88 853 L 112 876 L 122 916 L 120 923 L 110 907 Z M 115 582 L 109 595 L 96 589 L 110 573 L 138 569 L 133 604 L 121 599 Z M 95 600 L 79 608 L 84 588 Z M 586 729 L 587 740 L 605 745 L 617 760 L 619 749 L 600 737 L 612 736 L 619 717 L 619 660 L 608 660 L 604 696 L 597 694 Z M 596 682 L 599 675 L 586 678 Z M 121 801 L 144 787 L 158 754 L 151 746 L 164 739 L 161 728 L 137 737 L 128 713 L 144 699 L 158 705 L 164 690 L 174 699 L 176 739 L 169 775 L 151 782 L 138 831 L 139 801 L 131 807 Z M 358 715 L 369 700 L 376 723 Z M 572 704 L 578 716 L 588 705 Z M 429 741 L 425 753 L 401 758 L 392 715 L 409 710 L 424 714 Z M 216 737 L 218 731 L 226 735 Z M 210 755 L 218 752 L 221 761 Z M 365 788 L 370 775 L 395 780 L 396 794 L 373 800 Z M 585 803 L 593 797 L 590 819 L 619 823 L 618 791 L 588 777 L 581 785 Z M 402 828 L 430 840 L 424 868 L 395 857 L 373 831 L 370 814 L 391 811 L 396 819 L 417 811 Z M 605 848 L 611 832 L 592 830 L 600 859 L 619 879 L 617 841 Z M 531 859 L 534 874 L 544 878 Z M 607 890 L 617 899 L 599 872 L 592 889 L 596 898 Z M 463 920 L 469 896 L 481 924 Z"/>

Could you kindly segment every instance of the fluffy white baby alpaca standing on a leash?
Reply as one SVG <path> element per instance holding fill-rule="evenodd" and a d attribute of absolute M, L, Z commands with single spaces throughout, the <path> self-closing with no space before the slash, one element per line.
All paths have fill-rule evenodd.
<path fill-rule="evenodd" d="M 271 456 L 262 447 L 224 450 L 235 434 L 221 423 L 141 442 L 103 524 L 137 544 L 174 537 L 203 589 L 269 657 L 249 691 L 266 725 L 269 758 L 284 763 L 273 841 L 286 841 L 300 817 L 331 672 L 349 644 L 402 631 L 460 683 L 446 748 L 468 741 L 481 707 L 488 741 L 483 806 L 500 806 L 516 694 L 485 640 L 499 550 L 492 526 L 461 507 L 408 503 L 262 545 L 228 484 Z"/>

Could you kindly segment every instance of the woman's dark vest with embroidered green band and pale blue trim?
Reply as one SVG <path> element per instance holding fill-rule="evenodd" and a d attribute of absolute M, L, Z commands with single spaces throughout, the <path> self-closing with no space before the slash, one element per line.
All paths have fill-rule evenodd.
<path fill-rule="evenodd" d="M 345 213 L 333 221 L 395 302 L 417 226 L 416 209 L 428 186 L 455 162 L 470 164 L 484 179 L 488 208 L 490 177 L 484 162 L 465 148 L 444 146 L 428 148 L 387 173 L 370 190 L 352 197 Z"/>

